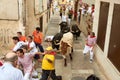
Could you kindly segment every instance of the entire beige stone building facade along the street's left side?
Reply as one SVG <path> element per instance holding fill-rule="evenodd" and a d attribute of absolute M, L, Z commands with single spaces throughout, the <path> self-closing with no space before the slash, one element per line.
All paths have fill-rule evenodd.
<path fill-rule="evenodd" d="M 45 34 L 50 11 L 50 0 L 1 0 L 0 44 L 12 45 L 17 31 L 31 35 L 36 27 L 42 27 Z"/>

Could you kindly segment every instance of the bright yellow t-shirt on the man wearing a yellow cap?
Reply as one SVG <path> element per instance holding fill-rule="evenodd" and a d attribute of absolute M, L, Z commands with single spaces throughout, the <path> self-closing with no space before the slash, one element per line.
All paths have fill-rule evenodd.
<path fill-rule="evenodd" d="M 47 59 L 50 59 L 52 61 L 52 63 L 48 62 Z M 54 67 L 54 61 L 55 61 L 54 55 L 46 54 L 43 57 L 42 69 L 44 69 L 44 70 L 54 70 L 55 69 L 55 67 Z"/>

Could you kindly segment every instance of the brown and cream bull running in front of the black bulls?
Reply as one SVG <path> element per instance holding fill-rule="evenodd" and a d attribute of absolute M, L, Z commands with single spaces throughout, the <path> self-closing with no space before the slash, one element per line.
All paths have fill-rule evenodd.
<path fill-rule="evenodd" d="M 64 66 L 67 66 L 66 56 L 69 54 L 70 60 L 72 60 L 71 53 L 73 52 L 73 34 L 71 32 L 67 32 L 63 35 L 60 41 L 60 51 L 64 58 Z"/>

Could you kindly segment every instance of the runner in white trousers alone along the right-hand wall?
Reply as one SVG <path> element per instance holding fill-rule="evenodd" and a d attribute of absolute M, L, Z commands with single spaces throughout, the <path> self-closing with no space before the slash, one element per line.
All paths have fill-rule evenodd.
<path fill-rule="evenodd" d="M 96 44 L 96 39 L 97 38 L 95 36 L 95 33 L 91 32 L 90 35 L 88 35 L 88 37 L 87 37 L 85 48 L 83 50 L 84 55 L 86 55 L 86 53 L 88 53 L 88 51 L 90 51 L 90 63 L 92 63 L 92 61 L 93 61 L 93 49 Z"/>

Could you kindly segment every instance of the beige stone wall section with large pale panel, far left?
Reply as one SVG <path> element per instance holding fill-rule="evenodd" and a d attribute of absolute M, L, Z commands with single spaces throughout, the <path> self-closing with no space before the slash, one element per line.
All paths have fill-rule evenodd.
<path fill-rule="evenodd" d="M 22 3 L 22 0 L 13 0 L 12 2 L 10 0 L 2 0 L 0 2 L 0 6 L 2 6 L 0 9 L 1 46 L 11 47 L 13 45 L 12 37 L 16 35 L 17 31 L 21 31 L 24 34 Z"/>

